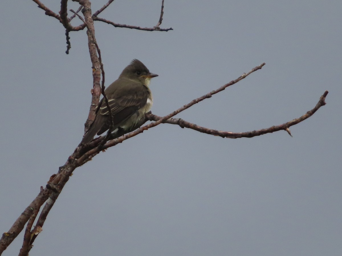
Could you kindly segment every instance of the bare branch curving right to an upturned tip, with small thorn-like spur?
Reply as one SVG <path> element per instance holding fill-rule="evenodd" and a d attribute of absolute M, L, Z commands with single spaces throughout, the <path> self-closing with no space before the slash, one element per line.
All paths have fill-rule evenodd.
<path fill-rule="evenodd" d="M 324 106 L 326 104 L 325 98 L 326 98 L 327 94 L 328 94 L 328 91 L 325 91 L 325 93 L 320 97 L 316 106 L 312 110 L 306 112 L 301 117 L 295 118 L 295 119 L 293 119 L 287 123 L 277 125 L 277 126 L 272 126 L 272 127 L 266 128 L 266 129 L 247 131 L 247 132 L 219 131 L 219 130 L 214 130 L 214 129 L 198 126 L 198 125 L 190 123 L 190 122 L 186 122 L 181 118 L 170 118 L 170 119 L 164 120 L 162 123 L 179 125 L 181 128 L 189 128 L 189 129 L 193 129 L 195 131 L 199 131 L 202 133 L 207 133 L 210 135 L 220 136 L 222 138 L 230 138 L 230 139 L 252 138 L 255 136 L 259 136 L 262 134 L 271 133 L 271 132 L 275 132 L 275 131 L 280 131 L 280 130 L 285 130 L 291 135 L 289 127 L 304 121 L 305 119 L 312 116 L 321 106 Z M 150 121 L 158 121 L 158 120 L 163 118 L 161 116 L 157 116 L 157 115 L 153 115 L 153 114 L 147 114 L 146 116 L 147 116 L 148 120 L 150 120 Z"/>

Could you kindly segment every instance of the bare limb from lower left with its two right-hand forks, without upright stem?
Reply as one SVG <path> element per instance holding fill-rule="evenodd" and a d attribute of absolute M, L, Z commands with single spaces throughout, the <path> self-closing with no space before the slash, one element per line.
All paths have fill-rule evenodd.
<path fill-rule="evenodd" d="M 25 239 L 26 239 L 26 235 L 28 235 L 29 233 L 32 234 L 32 238 L 30 240 L 29 246 L 28 246 L 28 251 L 32 246 L 33 241 L 35 240 L 35 238 L 37 237 L 39 230 L 41 230 L 41 227 L 44 224 L 44 221 L 49 213 L 49 211 L 51 210 L 53 203 L 55 202 L 55 200 L 57 199 L 58 195 L 61 193 L 64 185 L 66 184 L 66 182 L 69 180 L 69 177 L 71 176 L 71 174 L 73 173 L 73 171 L 83 165 L 84 163 L 86 163 L 87 161 L 91 160 L 96 154 L 100 153 L 101 151 L 103 151 L 104 149 L 114 146 L 118 143 L 123 142 L 124 140 L 127 140 L 139 133 L 142 133 L 144 130 L 147 130 L 151 127 L 157 126 L 161 123 L 172 123 L 172 124 L 178 124 L 181 127 L 187 127 L 187 128 L 195 128 L 195 130 L 201 131 L 201 132 L 206 132 L 206 129 L 208 128 L 204 128 L 204 127 L 200 127 L 200 126 L 196 126 L 195 124 L 190 124 L 188 122 L 185 121 L 181 121 L 181 119 L 174 119 L 171 118 L 172 116 L 182 112 L 183 110 L 189 108 L 190 106 L 206 99 L 206 98 L 211 98 L 212 95 L 219 93 L 220 91 L 224 90 L 225 88 L 227 88 L 230 85 L 233 85 L 235 83 L 237 83 L 238 81 L 244 79 L 245 77 L 247 77 L 249 74 L 251 74 L 252 72 L 261 69 L 263 66 L 265 65 L 265 63 L 262 63 L 261 65 L 253 68 L 251 71 L 249 71 L 247 74 L 244 73 L 242 74 L 240 77 L 238 77 L 236 80 L 233 80 L 223 86 L 221 86 L 220 88 L 211 91 L 210 93 L 203 95 L 197 99 L 194 99 L 193 101 L 191 101 L 190 103 L 182 106 L 181 108 L 177 109 L 176 111 L 173 111 L 172 113 L 170 113 L 169 115 L 166 115 L 164 117 L 159 117 L 159 116 L 155 116 L 152 114 L 147 114 L 144 118 L 142 118 L 139 122 L 139 124 L 137 124 L 137 127 L 139 127 L 140 125 L 143 125 L 148 118 L 150 118 L 151 120 L 155 120 L 156 122 L 154 123 L 150 123 L 148 125 L 145 125 L 137 130 L 134 130 L 130 133 L 127 134 L 115 134 L 112 133 L 111 134 L 111 138 L 113 138 L 113 136 L 120 136 L 114 140 L 110 140 L 108 141 L 106 144 L 102 144 L 104 139 L 103 137 L 98 137 L 96 139 L 94 139 L 91 143 L 87 144 L 87 145 L 80 145 L 79 147 L 77 147 L 74 151 L 74 153 L 72 155 L 70 155 L 70 157 L 68 158 L 67 162 L 65 163 L 64 166 L 60 167 L 59 171 L 57 174 L 52 175 L 50 178 L 50 181 L 48 182 L 46 188 L 42 189 L 41 192 L 38 194 L 38 196 L 36 197 L 36 199 L 34 201 L 32 201 L 32 203 L 29 205 L 29 207 L 26 208 L 26 210 L 19 216 L 19 218 L 17 219 L 17 221 L 13 224 L 13 226 L 11 227 L 11 229 L 9 230 L 9 232 L 6 232 L 3 234 L 2 238 L 0 239 L 0 253 L 6 249 L 6 247 L 13 241 L 13 239 L 17 236 L 17 234 L 23 229 L 25 223 L 30 219 L 34 219 L 35 214 L 34 212 L 39 211 L 40 206 L 44 203 L 44 201 L 46 201 L 48 198 L 49 200 L 47 201 L 47 203 L 44 205 L 42 212 L 38 218 L 37 224 L 36 224 L 36 228 L 37 228 L 37 232 L 34 232 L 36 230 L 36 228 L 29 232 L 25 232 Z M 313 115 L 322 105 L 325 105 L 325 97 L 327 96 L 328 92 L 326 91 L 324 93 L 323 96 L 321 96 L 319 102 L 317 103 L 317 105 L 315 106 L 314 109 L 312 109 L 311 111 L 308 111 L 305 115 L 303 115 L 300 118 L 294 119 L 288 123 L 282 124 L 280 126 L 274 126 L 274 127 L 270 127 L 268 129 L 263 129 L 263 130 L 258 130 L 258 131 L 252 131 L 252 132 L 246 132 L 246 133 L 234 133 L 235 134 L 235 138 L 240 138 L 240 137 L 253 137 L 253 136 L 257 136 L 260 134 L 264 134 L 266 132 L 273 132 L 276 130 L 287 130 L 288 127 L 297 124 L 299 122 L 302 122 L 303 120 L 305 120 L 306 118 L 310 117 L 311 115 Z M 216 130 L 210 130 L 209 132 L 206 132 L 212 135 L 217 135 L 217 136 L 222 136 L 222 137 L 228 137 L 228 138 L 233 138 L 233 133 L 231 132 L 222 132 L 222 131 L 216 131 Z M 114 135 L 115 134 L 115 135 Z M 31 227 L 31 223 L 30 222 L 28 224 L 28 227 Z M 29 228 L 27 228 L 27 230 L 29 230 Z M 25 246 L 27 246 L 27 242 L 25 242 Z"/>

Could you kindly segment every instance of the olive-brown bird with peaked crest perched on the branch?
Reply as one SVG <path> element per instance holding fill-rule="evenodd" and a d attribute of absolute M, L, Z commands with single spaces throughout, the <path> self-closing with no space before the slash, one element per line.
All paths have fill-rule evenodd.
<path fill-rule="evenodd" d="M 108 105 L 111 110 L 113 127 L 130 131 L 145 113 L 150 111 L 153 98 L 149 88 L 150 80 L 157 74 L 151 73 L 146 66 L 137 59 L 124 68 L 119 78 L 105 89 Z M 81 143 L 89 143 L 95 136 L 107 131 L 110 127 L 109 110 L 104 98 L 99 102 L 94 122 L 84 134 Z"/>

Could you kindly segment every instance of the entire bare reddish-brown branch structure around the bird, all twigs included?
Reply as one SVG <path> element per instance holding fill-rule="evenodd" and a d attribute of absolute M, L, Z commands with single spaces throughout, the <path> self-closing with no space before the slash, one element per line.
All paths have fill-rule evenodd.
<path fill-rule="evenodd" d="M 102 94 L 104 96 L 104 100 L 107 104 L 107 107 L 109 111 L 111 109 L 109 108 L 108 104 L 108 99 L 104 93 L 104 69 L 103 69 L 103 63 L 101 60 L 101 51 L 100 48 L 98 47 L 95 39 L 95 30 L 94 30 L 94 23 L 93 20 L 99 20 L 102 22 L 105 22 L 107 24 L 113 25 L 115 27 L 123 27 L 123 28 L 131 28 L 131 29 L 138 29 L 138 30 L 145 30 L 145 31 L 168 31 L 172 30 L 172 28 L 168 29 L 161 29 L 159 26 L 162 23 L 162 18 L 163 18 L 163 8 L 164 8 L 164 0 L 162 0 L 161 3 L 161 12 L 160 12 L 160 17 L 157 25 L 153 28 L 142 28 L 138 26 L 130 26 L 130 25 L 125 25 L 125 24 L 116 24 L 113 23 L 109 20 L 103 19 L 103 18 L 98 18 L 97 15 L 100 14 L 103 10 L 105 10 L 109 4 L 111 4 L 114 0 L 109 0 L 100 10 L 95 12 L 93 15 L 91 14 L 91 8 L 90 8 L 90 1 L 89 0 L 73 0 L 76 2 L 80 3 L 80 8 L 78 9 L 77 12 L 72 11 L 75 15 L 71 16 L 70 18 L 67 17 L 67 0 L 61 0 L 61 10 L 60 10 L 60 15 L 52 12 L 49 8 L 47 8 L 45 5 L 43 5 L 39 0 L 33 0 L 35 3 L 38 4 L 38 7 L 43 9 L 45 11 L 46 15 L 55 17 L 58 19 L 63 26 L 66 28 L 66 37 L 67 37 L 67 43 L 68 47 L 70 46 L 69 42 L 69 36 L 68 33 L 69 31 L 77 31 L 84 29 L 87 27 L 87 35 L 88 35 L 88 46 L 89 46 L 89 52 L 90 52 L 90 57 L 92 61 L 92 68 L 93 68 L 93 89 L 92 89 L 92 103 L 90 106 L 90 111 L 89 111 L 89 116 L 87 119 L 87 122 L 85 124 L 85 130 L 89 127 L 90 123 L 92 120 L 94 120 L 95 117 L 95 109 L 96 106 L 98 105 L 99 99 L 100 99 L 100 94 L 102 90 Z M 84 19 L 78 15 L 78 12 L 82 10 L 82 13 L 84 15 Z M 73 27 L 70 25 L 71 19 L 76 17 L 76 15 L 82 20 L 83 24 Z M 67 48 L 68 50 L 69 48 Z M 51 176 L 47 186 L 45 188 L 41 187 L 40 193 L 37 195 L 37 197 L 30 203 L 30 205 L 25 209 L 25 211 L 17 218 L 13 226 L 10 228 L 8 232 L 3 233 L 2 238 L 0 239 L 0 254 L 8 247 L 8 245 L 15 239 L 15 237 L 19 234 L 21 230 L 24 229 L 25 223 L 27 223 L 25 234 L 24 234 L 24 242 L 23 242 L 23 247 L 20 251 L 19 255 L 27 255 L 28 252 L 30 251 L 32 247 L 32 243 L 35 241 L 35 238 L 37 237 L 38 233 L 41 230 L 41 227 L 43 226 L 48 213 L 50 212 L 51 208 L 53 207 L 54 202 L 56 201 L 57 197 L 61 193 L 64 185 L 66 182 L 69 180 L 70 175 L 73 173 L 73 171 L 83 165 L 85 162 L 91 160 L 96 154 L 100 153 L 104 149 L 115 146 L 118 143 L 123 142 L 124 140 L 127 140 L 128 138 L 131 138 L 139 133 L 142 133 L 144 130 L 147 130 L 149 128 L 152 128 L 154 126 L 157 126 L 161 123 L 170 123 L 170 124 L 177 124 L 181 126 L 182 128 L 190 128 L 194 129 L 203 133 L 211 134 L 214 136 L 221 136 L 224 138 L 241 138 L 241 137 L 254 137 L 258 136 L 261 134 L 269 133 L 269 132 L 274 132 L 278 130 L 286 130 L 290 135 L 290 130 L 289 127 L 295 124 L 298 124 L 302 122 L 303 120 L 307 119 L 308 117 L 312 116 L 321 106 L 325 105 L 325 97 L 328 94 L 328 91 L 326 91 L 320 98 L 319 102 L 316 104 L 315 108 L 308 111 L 306 114 L 303 116 L 293 119 L 290 122 L 278 125 L 278 126 L 272 126 L 267 129 L 261 129 L 261 130 L 255 130 L 255 131 L 249 131 L 249 132 L 241 132 L 241 133 L 233 133 L 229 131 L 218 131 L 218 130 L 213 130 L 201 126 L 197 126 L 196 124 L 192 124 L 189 122 L 186 122 L 180 118 L 172 118 L 176 114 L 184 111 L 187 108 L 190 108 L 194 104 L 212 97 L 212 95 L 219 93 L 220 91 L 224 90 L 226 87 L 233 85 L 237 83 L 238 81 L 244 79 L 246 76 L 251 74 L 252 72 L 261 69 L 265 63 L 262 63 L 261 65 L 255 67 L 251 71 L 249 71 L 247 74 L 244 73 L 238 79 L 231 81 L 220 88 L 211 91 L 210 93 L 203 95 L 197 99 L 194 99 L 193 101 L 189 102 L 188 104 L 182 106 L 181 108 L 173 111 L 172 113 L 160 117 L 156 115 L 152 115 L 150 113 L 146 114 L 144 118 L 142 118 L 139 123 L 137 124 L 137 127 L 140 127 L 143 125 L 148 119 L 153 120 L 155 122 L 150 123 L 148 125 L 145 125 L 139 129 L 136 129 L 134 131 L 131 131 L 126 134 L 121 134 L 123 131 L 119 132 L 113 132 L 110 134 L 111 129 L 109 129 L 107 135 L 105 137 L 98 137 L 94 139 L 91 143 L 87 145 L 79 145 L 74 151 L 72 155 L 69 156 L 67 162 L 65 163 L 64 166 L 60 167 L 58 170 L 57 174 L 54 174 Z M 101 70 L 101 71 L 100 71 Z M 100 79 L 101 79 L 101 73 L 102 73 L 102 84 L 100 87 Z M 110 113 L 110 118 L 112 118 L 112 115 Z M 112 123 L 112 122 L 111 122 Z M 120 133 L 121 132 L 121 133 Z M 119 137 L 120 136 L 120 137 Z M 113 139 L 115 138 L 115 139 Z M 108 140 L 110 139 L 110 140 Z M 107 143 L 105 143 L 107 142 Z M 105 143 L 105 144 L 104 144 Z M 31 231 L 32 225 L 36 219 L 37 214 L 39 213 L 40 207 L 45 203 L 39 218 L 37 220 L 36 227 Z"/>

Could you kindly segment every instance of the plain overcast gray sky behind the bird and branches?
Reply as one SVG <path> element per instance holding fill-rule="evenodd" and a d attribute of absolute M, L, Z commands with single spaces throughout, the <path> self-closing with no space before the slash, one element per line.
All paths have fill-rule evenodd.
<path fill-rule="evenodd" d="M 160 3 L 116 0 L 100 16 L 153 27 Z M 173 31 L 95 22 L 106 85 L 137 58 L 159 74 L 152 112 L 166 115 L 266 62 L 176 117 L 242 132 L 303 115 L 325 90 L 327 105 L 293 138 L 165 124 L 110 148 L 76 169 L 30 255 L 342 255 L 342 2 L 166 0 L 164 12 Z M 62 25 L 33 1 L 2 1 L 0 13 L 3 233 L 80 142 L 92 71 L 86 31 L 70 33 L 66 55 Z"/>

